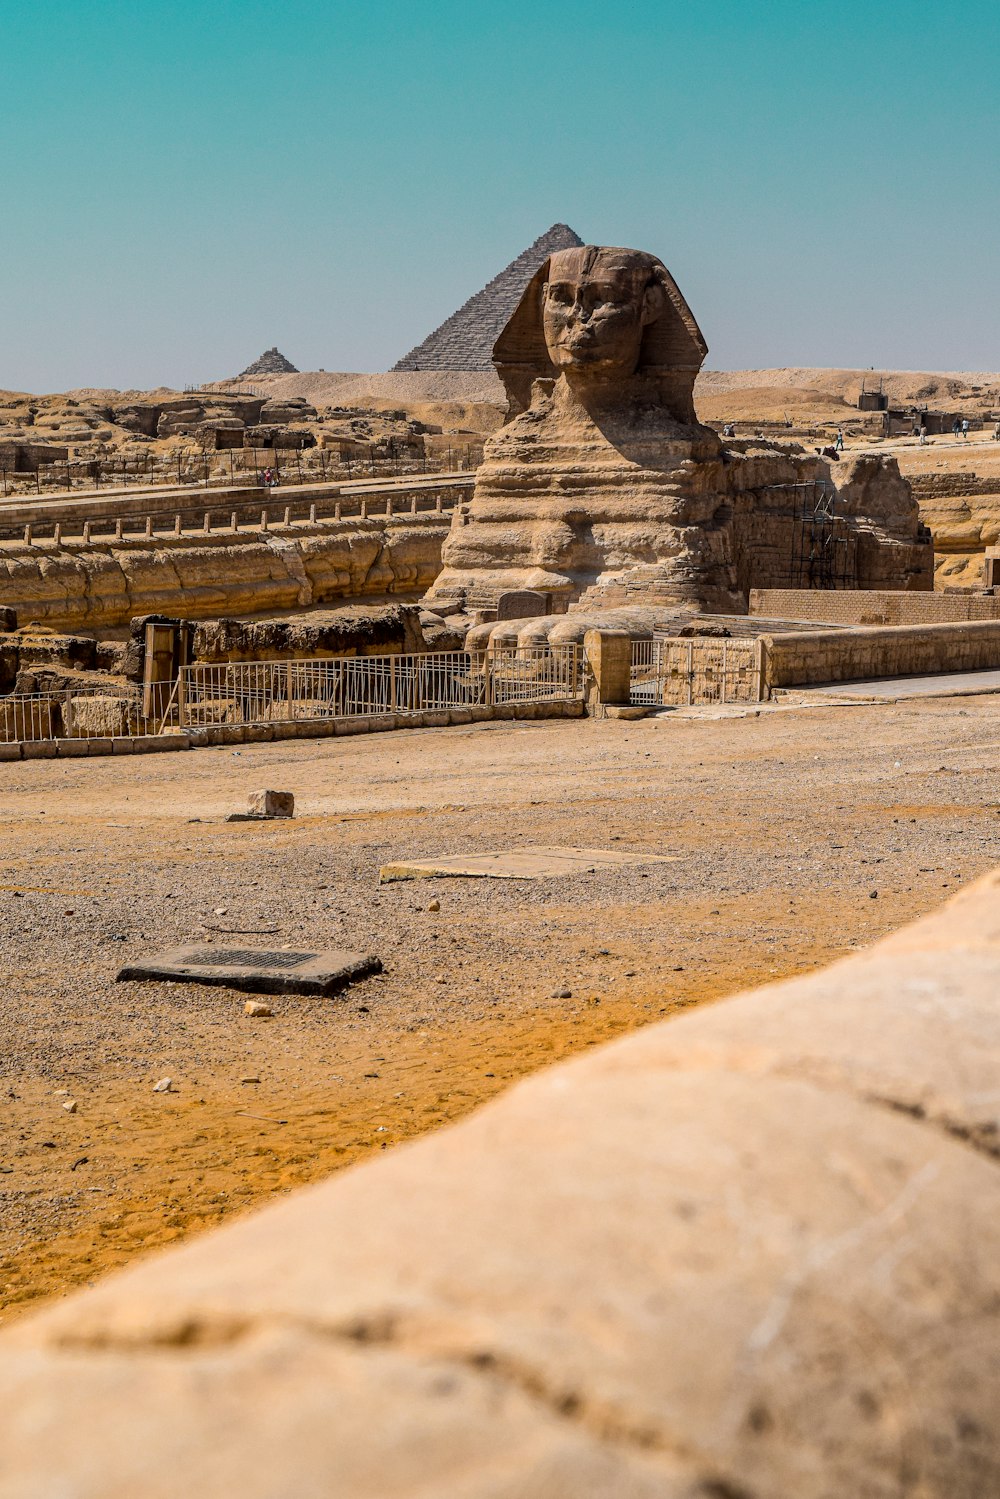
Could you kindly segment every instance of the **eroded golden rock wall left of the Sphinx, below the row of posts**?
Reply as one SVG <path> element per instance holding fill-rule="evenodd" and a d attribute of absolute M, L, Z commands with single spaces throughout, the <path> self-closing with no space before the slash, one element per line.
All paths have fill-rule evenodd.
<path fill-rule="evenodd" d="M 375 516 L 249 535 L 6 546 L 0 604 L 57 630 L 106 630 L 135 615 L 208 619 L 427 589 L 448 517 Z"/>

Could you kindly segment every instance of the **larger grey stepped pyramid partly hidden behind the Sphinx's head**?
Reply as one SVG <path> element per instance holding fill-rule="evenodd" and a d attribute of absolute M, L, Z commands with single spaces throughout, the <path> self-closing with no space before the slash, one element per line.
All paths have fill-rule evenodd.
<path fill-rule="evenodd" d="M 555 250 L 577 244 L 583 240 L 568 223 L 553 223 L 483 291 L 393 364 L 393 370 L 492 370 L 493 345 L 531 277 Z"/>

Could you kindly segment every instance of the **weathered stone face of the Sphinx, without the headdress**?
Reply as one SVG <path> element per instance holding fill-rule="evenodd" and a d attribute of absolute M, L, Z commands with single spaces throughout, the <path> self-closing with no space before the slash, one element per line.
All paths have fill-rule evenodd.
<path fill-rule="evenodd" d="M 639 364 L 643 330 L 663 306 L 646 256 L 562 250 L 552 256 L 543 289 L 549 358 L 571 381 L 627 379 Z"/>

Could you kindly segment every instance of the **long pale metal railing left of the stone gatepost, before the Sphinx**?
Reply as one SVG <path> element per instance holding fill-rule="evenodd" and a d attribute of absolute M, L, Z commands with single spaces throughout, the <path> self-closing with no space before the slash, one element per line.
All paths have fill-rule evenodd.
<path fill-rule="evenodd" d="M 580 699 L 576 645 L 181 667 L 162 730 Z"/>

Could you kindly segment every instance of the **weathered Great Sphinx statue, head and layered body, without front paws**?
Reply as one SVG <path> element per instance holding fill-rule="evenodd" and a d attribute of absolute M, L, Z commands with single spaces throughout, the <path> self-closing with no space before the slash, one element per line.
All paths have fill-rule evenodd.
<path fill-rule="evenodd" d="M 723 444 L 694 414 L 706 343 L 652 255 L 553 253 L 493 349 L 508 396 L 427 606 L 745 612 L 751 588 L 930 589 L 933 544 L 892 459 Z M 829 577 L 826 577 L 829 573 Z"/>

